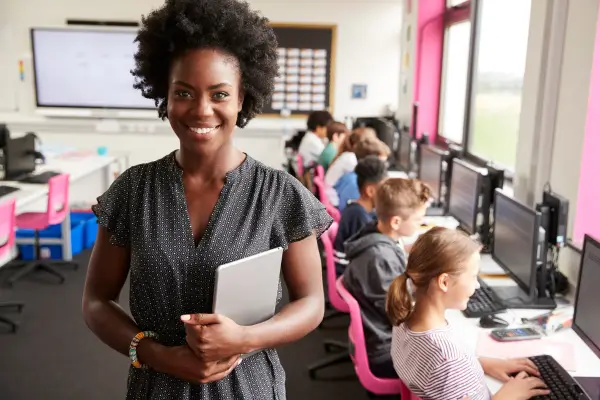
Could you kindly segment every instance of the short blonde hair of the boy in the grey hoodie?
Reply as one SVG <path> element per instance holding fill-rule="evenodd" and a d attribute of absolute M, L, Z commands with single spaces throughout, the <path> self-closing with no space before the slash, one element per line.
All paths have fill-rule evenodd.
<path fill-rule="evenodd" d="M 424 206 L 431 189 L 417 179 L 390 178 L 383 181 L 375 194 L 375 213 L 380 221 L 405 216 Z"/>

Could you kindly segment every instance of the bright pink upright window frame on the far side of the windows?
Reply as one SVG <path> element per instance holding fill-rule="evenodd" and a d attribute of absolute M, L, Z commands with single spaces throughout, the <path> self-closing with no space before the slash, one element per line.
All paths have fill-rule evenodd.
<path fill-rule="evenodd" d="M 438 134 L 444 33 L 450 25 L 470 18 L 470 1 L 466 3 L 466 7 L 447 8 L 446 0 L 419 2 L 413 92 L 413 103 L 419 105 L 419 110 L 412 123 L 417 137 L 427 132 L 431 142 Z"/>

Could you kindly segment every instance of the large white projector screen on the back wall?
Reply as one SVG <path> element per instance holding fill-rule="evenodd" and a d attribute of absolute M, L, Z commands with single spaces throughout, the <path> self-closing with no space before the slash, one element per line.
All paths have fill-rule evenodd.
<path fill-rule="evenodd" d="M 38 107 L 154 109 L 133 88 L 135 30 L 32 28 Z"/>

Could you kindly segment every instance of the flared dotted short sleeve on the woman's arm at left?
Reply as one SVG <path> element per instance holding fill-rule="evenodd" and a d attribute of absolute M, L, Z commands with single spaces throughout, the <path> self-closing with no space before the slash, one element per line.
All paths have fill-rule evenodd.
<path fill-rule="evenodd" d="M 92 211 L 98 218 L 98 225 L 110 233 L 110 243 L 126 247 L 129 245 L 129 193 L 130 172 L 123 172 L 110 185 L 108 190 L 97 198 Z"/>

